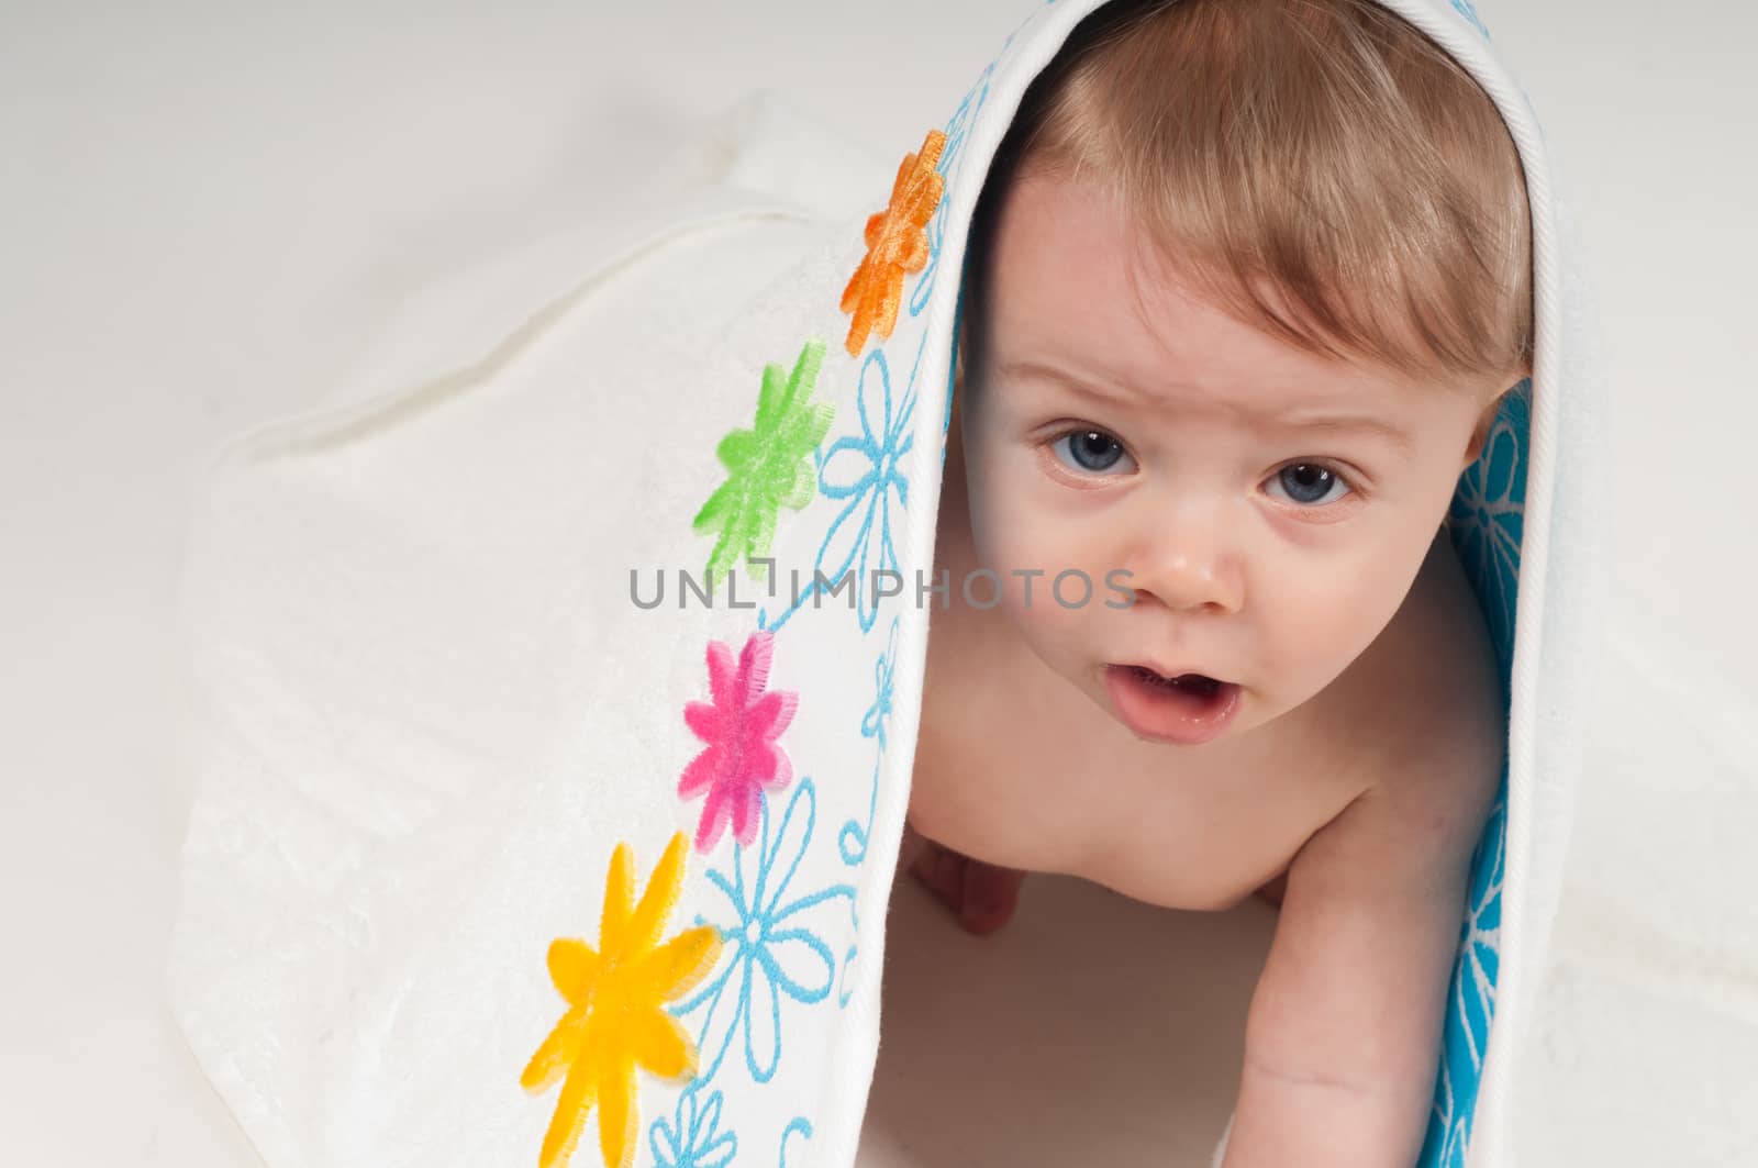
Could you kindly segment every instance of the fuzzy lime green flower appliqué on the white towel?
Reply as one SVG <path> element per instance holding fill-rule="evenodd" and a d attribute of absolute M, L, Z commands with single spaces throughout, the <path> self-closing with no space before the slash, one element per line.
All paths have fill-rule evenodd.
<path fill-rule="evenodd" d="M 708 554 L 710 586 L 719 586 L 740 559 L 761 579 L 761 565 L 749 561 L 768 552 L 775 515 L 784 505 L 798 510 L 812 501 L 817 473 L 810 454 L 835 413 L 835 405 L 810 401 L 823 364 L 825 343 L 814 338 L 800 350 L 793 373 L 765 366 L 756 422 L 728 433 L 714 450 L 728 477 L 691 521 L 698 535 L 721 533 Z"/>

